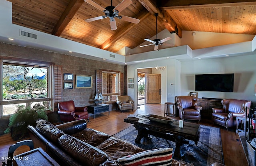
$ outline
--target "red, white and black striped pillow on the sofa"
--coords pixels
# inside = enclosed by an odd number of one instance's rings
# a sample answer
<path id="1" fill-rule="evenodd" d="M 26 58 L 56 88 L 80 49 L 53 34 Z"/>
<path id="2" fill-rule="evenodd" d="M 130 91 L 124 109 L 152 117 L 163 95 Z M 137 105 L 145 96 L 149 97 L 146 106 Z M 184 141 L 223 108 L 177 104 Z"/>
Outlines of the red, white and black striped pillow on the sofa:
<path id="1" fill-rule="evenodd" d="M 119 158 L 118 162 L 124 166 L 169 166 L 172 163 L 172 150 L 172 148 L 146 150 Z"/>

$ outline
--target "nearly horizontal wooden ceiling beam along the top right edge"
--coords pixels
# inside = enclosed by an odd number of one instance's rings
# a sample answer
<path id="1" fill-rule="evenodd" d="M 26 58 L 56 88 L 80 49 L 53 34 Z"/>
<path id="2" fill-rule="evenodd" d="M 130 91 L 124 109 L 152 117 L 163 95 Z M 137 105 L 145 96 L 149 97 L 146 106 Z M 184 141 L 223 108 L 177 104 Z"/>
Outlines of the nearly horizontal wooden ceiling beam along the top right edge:
<path id="1" fill-rule="evenodd" d="M 160 3 L 161 10 L 256 5 L 255 0 L 162 0 Z"/>

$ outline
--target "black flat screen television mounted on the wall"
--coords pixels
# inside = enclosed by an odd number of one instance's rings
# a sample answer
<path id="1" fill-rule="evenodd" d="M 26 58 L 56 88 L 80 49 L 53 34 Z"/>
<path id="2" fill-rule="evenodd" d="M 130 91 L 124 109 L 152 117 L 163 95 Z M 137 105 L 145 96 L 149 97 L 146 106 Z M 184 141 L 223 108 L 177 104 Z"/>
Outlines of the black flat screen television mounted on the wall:
<path id="1" fill-rule="evenodd" d="M 196 74 L 196 91 L 234 91 L 234 74 Z"/>

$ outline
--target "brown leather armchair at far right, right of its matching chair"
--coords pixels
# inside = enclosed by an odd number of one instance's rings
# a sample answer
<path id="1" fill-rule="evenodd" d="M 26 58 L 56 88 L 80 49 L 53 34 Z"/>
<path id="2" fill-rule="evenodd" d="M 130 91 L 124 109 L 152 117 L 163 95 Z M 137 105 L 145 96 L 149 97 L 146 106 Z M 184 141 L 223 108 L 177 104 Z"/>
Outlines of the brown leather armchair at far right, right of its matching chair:
<path id="1" fill-rule="evenodd" d="M 239 99 L 223 99 L 221 101 L 223 108 L 212 108 L 212 121 L 220 124 L 228 130 L 236 126 L 236 117 L 245 117 L 246 107 L 251 106 L 251 101 Z"/>

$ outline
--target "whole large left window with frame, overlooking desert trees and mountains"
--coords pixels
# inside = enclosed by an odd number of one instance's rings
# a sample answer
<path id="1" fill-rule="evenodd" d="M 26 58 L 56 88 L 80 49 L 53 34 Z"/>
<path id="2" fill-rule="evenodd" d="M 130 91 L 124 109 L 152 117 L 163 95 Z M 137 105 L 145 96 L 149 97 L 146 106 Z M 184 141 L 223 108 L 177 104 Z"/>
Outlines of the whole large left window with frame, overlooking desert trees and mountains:
<path id="1" fill-rule="evenodd" d="M 16 105 L 32 108 L 41 103 L 49 109 L 51 70 L 50 65 L 1 61 L 1 117 L 12 115 Z"/>

